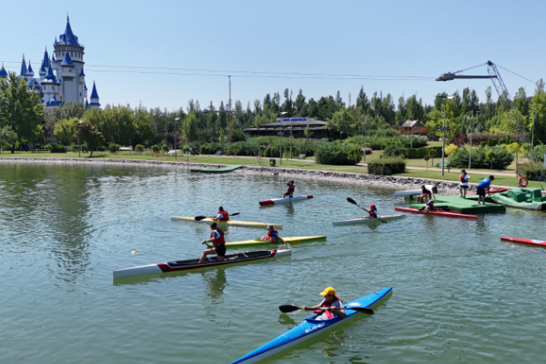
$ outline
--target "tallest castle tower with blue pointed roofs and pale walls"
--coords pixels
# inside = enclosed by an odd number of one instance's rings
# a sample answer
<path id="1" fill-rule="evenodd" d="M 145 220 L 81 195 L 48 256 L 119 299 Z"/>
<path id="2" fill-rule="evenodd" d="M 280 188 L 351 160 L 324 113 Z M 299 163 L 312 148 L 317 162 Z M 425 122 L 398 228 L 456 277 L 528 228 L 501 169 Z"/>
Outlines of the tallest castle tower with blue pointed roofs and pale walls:
<path id="1" fill-rule="evenodd" d="M 84 45 L 80 45 L 77 36 L 70 26 L 70 18 L 66 16 L 65 33 L 59 35 L 59 40 L 55 41 L 52 63 L 53 69 L 61 82 L 60 100 L 67 102 L 85 102 L 85 80 L 81 82 L 82 71 L 84 69 Z M 56 61 L 55 59 L 62 59 Z"/>

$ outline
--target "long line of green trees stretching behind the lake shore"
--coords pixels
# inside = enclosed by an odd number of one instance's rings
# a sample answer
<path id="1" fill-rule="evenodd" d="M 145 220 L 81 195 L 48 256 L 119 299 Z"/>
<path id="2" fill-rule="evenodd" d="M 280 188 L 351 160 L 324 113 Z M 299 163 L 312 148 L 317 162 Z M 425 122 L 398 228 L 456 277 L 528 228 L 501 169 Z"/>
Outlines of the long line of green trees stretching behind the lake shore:
<path id="1" fill-rule="evenodd" d="M 406 120 L 419 120 L 430 126 L 431 134 L 441 135 L 444 121 L 450 126 L 447 133 L 451 139 L 455 133 L 490 133 L 513 135 L 518 129 L 513 123 L 513 112 L 520 117 L 525 132 L 534 144 L 546 141 L 546 95 L 540 80 L 533 96 L 527 96 L 521 87 L 513 100 L 503 94 L 493 101 L 491 87 L 487 87 L 480 101 L 475 90 L 466 87 L 452 98 L 440 94 L 432 105 L 427 105 L 417 95 L 384 96 L 374 92 L 369 96 L 360 87 L 354 103 L 339 95 L 321 96 L 318 100 L 304 96 L 301 89 L 296 96 L 288 88 L 283 95 L 276 92 L 256 99 L 243 106 L 235 101 L 231 123 L 228 106 L 221 102 L 215 106 L 210 102 L 202 107 L 198 100 L 189 100 L 186 108 L 175 111 L 146 106 L 111 106 L 90 109 L 81 104 L 67 103 L 44 109 L 40 96 L 25 85 L 25 80 L 10 73 L 0 79 L 0 147 L 12 152 L 18 148 L 45 144 L 73 145 L 77 135 L 87 147 L 107 147 L 110 144 L 135 147 L 142 145 L 175 144 L 198 147 L 204 143 L 227 143 L 245 140 L 244 128 L 259 127 L 283 117 L 310 117 L 327 121 L 330 136 L 344 138 L 401 126 Z M 229 127 L 231 125 L 231 127 Z M 532 132 L 532 135 L 531 135 Z"/>

